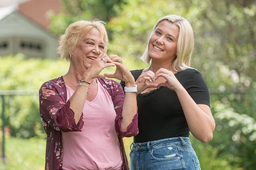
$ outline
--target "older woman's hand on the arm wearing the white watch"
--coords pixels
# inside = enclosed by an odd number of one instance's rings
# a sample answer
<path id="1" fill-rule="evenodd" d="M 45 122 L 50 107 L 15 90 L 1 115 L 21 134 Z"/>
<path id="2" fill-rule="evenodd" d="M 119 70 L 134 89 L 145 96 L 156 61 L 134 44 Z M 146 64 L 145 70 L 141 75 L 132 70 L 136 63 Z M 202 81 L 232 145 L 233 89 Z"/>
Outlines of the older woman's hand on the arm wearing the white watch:
<path id="1" fill-rule="evenodd" d="M 115 73 L 113 74 L 105 73 L 104 75 L 107 76 L 108 78 L 116 78 L 118 80 L 122 80 L 125 83 L 135 84 L 133 75 L 127 69 L 122 59 L 115 54 L 110 54 L 109 58 L 112 60 L 112 63 L 114 63 L 114 65 L 116 66 Z"/>

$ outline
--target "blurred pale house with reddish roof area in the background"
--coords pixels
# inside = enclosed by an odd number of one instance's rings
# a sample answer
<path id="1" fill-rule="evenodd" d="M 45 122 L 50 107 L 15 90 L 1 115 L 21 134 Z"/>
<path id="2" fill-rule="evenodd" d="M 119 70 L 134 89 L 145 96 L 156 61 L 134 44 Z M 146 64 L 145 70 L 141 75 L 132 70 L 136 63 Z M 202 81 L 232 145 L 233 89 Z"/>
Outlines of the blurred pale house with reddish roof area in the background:
<path id="1" fill-rule="evenodd" d="M 44 7 L 40 2 L 44 3 Z M 53 1 L 31 0 L 0 8 L 0 57 L 17 53 L 23 53 L 28 58 L 57 57 L 58 37 L 48 31 L 48 23 L 40 19 L 46 18 L 47 3 L 50 6 L 51 2 Z"/>

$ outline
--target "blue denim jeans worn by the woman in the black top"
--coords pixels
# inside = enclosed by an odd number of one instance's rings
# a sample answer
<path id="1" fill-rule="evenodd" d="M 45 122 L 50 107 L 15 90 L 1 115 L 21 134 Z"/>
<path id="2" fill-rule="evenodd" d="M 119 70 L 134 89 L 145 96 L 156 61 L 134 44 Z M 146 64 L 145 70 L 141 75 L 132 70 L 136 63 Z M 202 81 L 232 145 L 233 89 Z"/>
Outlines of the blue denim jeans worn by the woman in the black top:
<path id="1" fill-rule="evenodd" d="M 188 137 L 132 143 L 130 163 L 131 170 L 201 169 Z"/>

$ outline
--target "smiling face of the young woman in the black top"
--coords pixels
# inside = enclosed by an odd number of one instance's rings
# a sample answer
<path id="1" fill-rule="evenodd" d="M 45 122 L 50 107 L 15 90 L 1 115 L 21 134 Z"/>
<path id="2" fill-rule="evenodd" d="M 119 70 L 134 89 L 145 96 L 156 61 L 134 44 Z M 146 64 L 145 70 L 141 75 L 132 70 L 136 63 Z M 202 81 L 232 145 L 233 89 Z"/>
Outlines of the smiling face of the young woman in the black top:
<path id="1" fill-rule="evenodd" d="M 156 27 L 148 43 L 148 56 L 152 61 L 170 63 L 177 52 L 179 28 L 167 20 Z"/>

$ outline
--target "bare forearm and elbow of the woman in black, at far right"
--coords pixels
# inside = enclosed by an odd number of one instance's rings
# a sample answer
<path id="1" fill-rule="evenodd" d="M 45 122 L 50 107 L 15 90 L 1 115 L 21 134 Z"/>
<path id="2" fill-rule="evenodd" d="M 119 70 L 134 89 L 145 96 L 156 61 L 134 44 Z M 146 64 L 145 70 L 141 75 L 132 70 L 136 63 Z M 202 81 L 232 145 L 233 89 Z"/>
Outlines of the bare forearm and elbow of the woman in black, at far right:
<path id="1" fill-rule="evenodd" d="M 209 107 L 202 104 L 200 108 L 183 87 L 175 91 L 191 133 L 202 142 L 212 140 L 215 123 Z"/>

